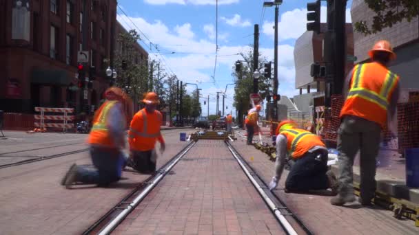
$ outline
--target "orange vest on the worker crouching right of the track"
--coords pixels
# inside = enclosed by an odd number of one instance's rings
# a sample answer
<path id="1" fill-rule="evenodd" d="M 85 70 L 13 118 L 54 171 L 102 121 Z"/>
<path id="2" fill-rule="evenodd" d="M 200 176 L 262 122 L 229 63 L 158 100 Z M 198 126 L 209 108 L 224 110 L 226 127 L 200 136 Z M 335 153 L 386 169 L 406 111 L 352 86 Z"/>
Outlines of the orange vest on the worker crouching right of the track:
<path id="1" fill-rule="evenodd" d="M 280 135 L 285 135 L 285 137 L 287 137 L 288 155 L 293 159 L 303 157 L 303 155 L 314 146 L 326 146 L 320 137 L 303 129 L 287 129 L 282 131 Z"/>

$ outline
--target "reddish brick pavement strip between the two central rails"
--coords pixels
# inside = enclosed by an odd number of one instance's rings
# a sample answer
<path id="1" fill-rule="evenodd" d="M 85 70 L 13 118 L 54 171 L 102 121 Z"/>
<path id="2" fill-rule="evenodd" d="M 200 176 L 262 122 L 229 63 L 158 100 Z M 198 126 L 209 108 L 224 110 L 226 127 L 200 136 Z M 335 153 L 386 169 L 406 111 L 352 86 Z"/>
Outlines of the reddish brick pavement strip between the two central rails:
<path id="1" fill-rule="evenodd" d="M 284 234 L 220 140 L 200 140 L 114 234 Z"/>

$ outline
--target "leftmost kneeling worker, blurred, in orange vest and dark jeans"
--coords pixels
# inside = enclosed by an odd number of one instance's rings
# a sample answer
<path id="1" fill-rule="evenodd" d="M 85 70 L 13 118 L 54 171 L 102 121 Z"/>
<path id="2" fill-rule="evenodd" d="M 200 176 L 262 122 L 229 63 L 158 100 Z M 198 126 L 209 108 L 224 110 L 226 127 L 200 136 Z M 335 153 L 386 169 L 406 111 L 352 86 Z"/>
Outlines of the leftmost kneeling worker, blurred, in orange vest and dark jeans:
<path id="1" fill-rule="evenodd" d="M 121 178 L 124 131 L 127 117 L 132 117 L 132 101 L 117 87 L 107 89 L 105 98 L 94 114 L 88 137 L 90 157 L 96 169 L 73 164 L 61 181 L 66 188 L 75 182 L 108 186 Z"/>

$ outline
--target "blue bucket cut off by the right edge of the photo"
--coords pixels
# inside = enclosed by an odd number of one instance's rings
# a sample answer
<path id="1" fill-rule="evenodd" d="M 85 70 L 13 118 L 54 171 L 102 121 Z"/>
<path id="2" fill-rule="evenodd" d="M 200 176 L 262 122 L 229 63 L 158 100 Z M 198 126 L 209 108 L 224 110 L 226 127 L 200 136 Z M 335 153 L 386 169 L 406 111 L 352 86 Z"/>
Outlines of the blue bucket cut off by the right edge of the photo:
<path id="1" fill-rule="evenodd" d="M 405 149 L 406 186 L 419 188 L 419 148 Z"/>

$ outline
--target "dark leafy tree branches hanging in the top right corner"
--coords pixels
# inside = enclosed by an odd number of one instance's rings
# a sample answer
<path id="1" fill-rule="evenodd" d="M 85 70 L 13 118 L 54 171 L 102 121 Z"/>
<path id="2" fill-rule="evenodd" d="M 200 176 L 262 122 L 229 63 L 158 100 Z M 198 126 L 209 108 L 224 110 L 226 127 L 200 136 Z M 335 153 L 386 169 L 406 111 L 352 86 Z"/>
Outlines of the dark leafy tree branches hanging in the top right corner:
<path id="1" fill-rule="evenodd" d="M 365 35 L 381 32 L 385 27 L 406 19 L 408 22 L 419 15 L 418 0 L 364 0 L 376 15 L 372 23 L 358 21 L 354 23 L 355 30 Z M 371 28 L 370 28 L 371 27 Z"/>

